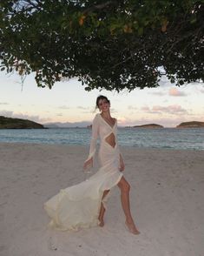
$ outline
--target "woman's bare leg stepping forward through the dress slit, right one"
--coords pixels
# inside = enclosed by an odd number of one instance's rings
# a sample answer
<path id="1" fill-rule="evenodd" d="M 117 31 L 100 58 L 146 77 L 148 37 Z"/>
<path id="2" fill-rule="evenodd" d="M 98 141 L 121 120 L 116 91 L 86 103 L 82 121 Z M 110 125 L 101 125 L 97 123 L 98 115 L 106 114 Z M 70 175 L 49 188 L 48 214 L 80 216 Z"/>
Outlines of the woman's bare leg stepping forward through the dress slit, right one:
<path id="1" fill-rule="evenodd" d="M 125 223 L 128 226 L 128 230 L 130 232 L 133 232 L 134 234 L 139 234 L 140 232 L 135 227 L 135 223 L 130 212 L 130 205 L 129 205 L 130 185 L 128 184 L 128 181 L 124 179 L 124 177 L 122 177 L 122 179 L 119 181 L 117 185 L 121 189 L 122 209 L 125 213 L 125 217 L 126 217 Z"/>

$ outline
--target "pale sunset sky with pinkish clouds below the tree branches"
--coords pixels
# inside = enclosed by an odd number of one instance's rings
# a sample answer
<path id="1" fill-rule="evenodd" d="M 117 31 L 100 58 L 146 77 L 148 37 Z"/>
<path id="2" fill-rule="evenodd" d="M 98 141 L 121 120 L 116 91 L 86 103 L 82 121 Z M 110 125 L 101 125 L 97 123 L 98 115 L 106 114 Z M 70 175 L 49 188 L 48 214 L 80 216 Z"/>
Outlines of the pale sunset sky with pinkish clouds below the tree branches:
<path id="1" fill-rule="evenodd" d="M 25 118 L 40 124 L 84 122 L 95 117 L 95 99 L 105 95 L 111 103 L 111 116 L 118 125 L 158 124 L 174 127 L 181 122 L 204 122 L 204 84 L 180 87 L 162 77 L 157 88 L 134 91 L 85 91 L 77 79 L 57 82 L 50 90 L 39 88 L 33 74 L 21 78 L 0 72 L 0 116 Z"/>

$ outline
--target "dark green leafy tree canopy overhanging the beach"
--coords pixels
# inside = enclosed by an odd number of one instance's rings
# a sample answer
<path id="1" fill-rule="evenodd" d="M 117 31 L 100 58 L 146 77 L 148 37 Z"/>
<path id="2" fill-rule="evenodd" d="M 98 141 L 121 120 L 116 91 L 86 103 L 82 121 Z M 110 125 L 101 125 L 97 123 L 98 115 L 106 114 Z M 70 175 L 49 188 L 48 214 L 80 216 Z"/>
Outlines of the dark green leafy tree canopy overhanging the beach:
<path id="1" fill-rule="evenodd" d="M 77 77 L 87 91 L 203 81 L 203 3 L 1 0 L 1 71 L 49 88 Z"/>

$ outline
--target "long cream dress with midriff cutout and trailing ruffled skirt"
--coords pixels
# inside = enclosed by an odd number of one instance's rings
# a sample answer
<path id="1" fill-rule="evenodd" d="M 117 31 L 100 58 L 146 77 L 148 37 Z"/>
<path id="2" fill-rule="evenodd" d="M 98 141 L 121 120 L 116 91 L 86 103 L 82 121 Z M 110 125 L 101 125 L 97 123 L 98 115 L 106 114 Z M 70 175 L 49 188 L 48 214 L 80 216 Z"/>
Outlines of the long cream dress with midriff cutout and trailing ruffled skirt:
<path id="1" fill-rule="evenodd" d="M 115 135 L 115 147 L 109 145 L 106 138 Z M 122 179 L 120 150 L 117 144 L 117 121 L 111 127 L 100 114 L 96 114 L 92 124 L 92 138 L 89 158 L 95 156 L 97 138 L 100 137 L 99 160 L 101 167 L 89 179 L 82 183 L 62 189 L 56 196 L 44 203 L 44 209 L 51 221 L 49 226 L 58 230 L 79 230 L 98 226 L 101 202 L 105 205 L 107 196 L 103 192 L 110 190 Z M 108 193 L 109 195 L 109 193 Z"/>

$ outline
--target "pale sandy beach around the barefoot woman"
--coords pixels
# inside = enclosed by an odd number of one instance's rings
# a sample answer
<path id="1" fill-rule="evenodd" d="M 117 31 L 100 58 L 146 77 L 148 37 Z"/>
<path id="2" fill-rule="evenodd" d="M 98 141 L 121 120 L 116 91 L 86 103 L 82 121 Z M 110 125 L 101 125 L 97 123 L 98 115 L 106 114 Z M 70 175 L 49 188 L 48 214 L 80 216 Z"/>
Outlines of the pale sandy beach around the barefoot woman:
<path id="1" fill-rule="evenodd" d="M 204 151 L 121 149 L 140 235 L 126 230 L 116 186 L 104 227 L 48 228 L 43 203 L 86 179 L 88 146 L 0 144 L 0 255 L 204 255 Z"/>

